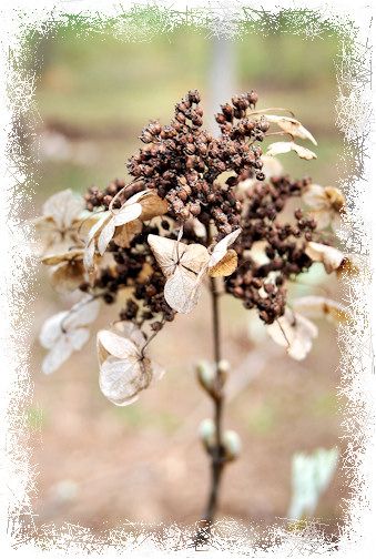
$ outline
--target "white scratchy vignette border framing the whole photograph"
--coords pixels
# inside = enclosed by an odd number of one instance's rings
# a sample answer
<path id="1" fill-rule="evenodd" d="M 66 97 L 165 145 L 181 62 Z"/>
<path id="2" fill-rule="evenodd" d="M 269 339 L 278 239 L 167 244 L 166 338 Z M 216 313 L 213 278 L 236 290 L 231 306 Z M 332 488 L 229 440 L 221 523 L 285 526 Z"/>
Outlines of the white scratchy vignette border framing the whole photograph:
<path id="1" fill-rule="evenodd" d="M 30 355 L 29 326 L 32 317 L 27 317 L 30 283 L 34 278 L 37 263 L 28 248 L 30 231 L 18 218 L 18 209 L 31 199 L 28 192 L 28 161 L 17 139 L 12 135 L 12 125 L 26 114 L 32 114 L 34 77 L 22 71 L 22 39 L 26 29 L 43 29 L 49 22 L 57 24 L 67 19 L 67 14 L 81 14 L 91 20 L 91 26 L 101 26 L 108 18 L 119 18 L 118 32 L 129 26 L 126 16 L 132 7 L 149 6 L 162 16 L 160 32 L 169 31 L 184 22 L 206 26 L 210 32 L 217 32 L 231 38 L 240 32 L 242 22 L 250 17 L 253 21 L 264 21 L 265 14 L 275 14 L 281 10 L 296 10 L 297 28 L 305 24 L 304 9 L 313 10 L 317 18 L 309 28 L 301 32 L 314 34 L 323 21 L 334 21 L 336 26 L 350 26 L 354 37 L 354 51 L 348 57 L 344 51 L 337 67 L 338 98 L 336 103 L 337 125 L 345 136 L 345 146 L 356 154 L 358 175 L 350 182 L 343 183 L 352 206 L 348 226 L 352 235 L 347 240 L 348 251 L 354 251 L 370 258 L 374 266 L 373 240 L 375 238 L 376 218 L 373 214 L 372 196 L 372 148 L 375 146 L 375 123 L 372 104 L 372 10 L 369 7 L 356 7 L 354 2 L 332 1 L 322 3 L 304 2 L 297 6 L 293 1 L 275 4 L 264 1 L 263 8 L 255 2 L 236 2 L 231 7 L 225 2 L 122 2 L 103 7 L 103 2 L 60 1 L 52 6 L 47 1 L 28 0 L 7 1 L 1 8 L 1 189 L 0 238 L 3 254 L 0 263 L 0 339 L 1 339 L 1 463 L 0 463 L 0 550 L 7 557 L 119 557 L 132 553 L 132 557 L 193 557 L 197 551 L 187 547 L 192 527 L 164 527 L 163 538 L 148 531 L 148 527 L 132 525 L 133 533 L 120 527 L 94 536 L 89 528 L 65 525 L 61 529 L 47 527 L 42 540 L 24 538 L 18 535 L 21 527 L 20 515 L 29 519 L 32 528 L 30 494 L 34 488 L 35 472 L 30 461 L 30 449 L 26 436 L 24 402 L 32 398 L 32 379 L 28 370 Z M 245 10 L 246 8 L 246 10 Z M 261 10 L 261 11 L 257 11 Z M 301 18 L 301 19 L 299 19 Z M 123 21 L 123 22 L 122 22 Z M 121 23 L 122 22 L 122 23 Z M 215 26 L 213 26 L 213 22 Z M 126 31 L 129 32 L 129 29 Z M 213 31 L 216 30 L 216 31 Z M 148 34 L 148 29 L 145 28 Z M 129 39 L 132 40 L 132 39 Z M 356 75 L 354 70 L 357 69 Z M 338 170 L 341 176 L 341 172 Z M 31 181 L 32 186 L 32 181 Z M 325 542 L 314 522 L 302 532 L 288 532 L 284 528 L 271 526 L 265 533 L 265 543 L 271 547 L 253 548 L 252 526 L 235 521 L 216 525 L 215 537 L 205 557 L 370 557 L 375 545 L 375 505 L 376 474 L 373 472 L 375 460 L 375 394 L 373 357 L 373 327 L 375 316 L 369 311 L 375 298 L 375 281 L 366 275 L 364 282 L 348 285 L 352 309 L 357 315 L 356 324 L 341 332 L 342 386 L 339 394 L 347 398 L 344 419 L 344 433 L 347 453 L 343 474 L 347 477 L 354 496 L 347 504 L 347 522 L 339 542 L 334 547 Z M 346 471 L 347 470 L 347 471 Z M 129 526 L 128 526 L 129 528 Z"/>

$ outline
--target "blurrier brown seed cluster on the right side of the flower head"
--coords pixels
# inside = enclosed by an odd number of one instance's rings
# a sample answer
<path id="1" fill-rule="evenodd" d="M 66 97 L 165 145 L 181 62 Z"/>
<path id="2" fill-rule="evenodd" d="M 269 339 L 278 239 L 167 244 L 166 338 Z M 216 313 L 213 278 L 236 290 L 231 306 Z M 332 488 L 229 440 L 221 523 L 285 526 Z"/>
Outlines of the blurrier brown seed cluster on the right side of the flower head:
<path id="1" fill-rule="evenodd" d="M 306 241 L 312 240 L 316 224 L 295 211 L 294 223 L 280 223 L 276 217 L 286 201 L 299 196 L 307 180 L 291 181 L 288 176 L 274 177 L 270 184 L 256 185 L 247 195 L 242 220 L 242 234 L 234 246 L 238 268 L 226 282 L 226 291 L 243 299 L 245 308 L 257 308 L 262 321 L 272 324 L 282 316 L 286 306 L 286 281 L 312 265 L 305 254 Z M 257 241 L 264 242 L 268 258 L 257 264 L 247 252 Z"/>

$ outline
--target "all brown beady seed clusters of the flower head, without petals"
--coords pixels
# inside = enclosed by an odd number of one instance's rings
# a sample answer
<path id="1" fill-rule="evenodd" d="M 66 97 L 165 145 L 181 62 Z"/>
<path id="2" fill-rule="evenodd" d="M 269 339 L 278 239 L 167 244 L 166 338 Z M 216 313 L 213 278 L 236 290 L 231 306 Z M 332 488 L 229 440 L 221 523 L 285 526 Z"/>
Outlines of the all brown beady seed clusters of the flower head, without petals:
<path id="1" fill-rule="evenodd" d="M 251 91 L 223 104 L 215 116 L 221 135 L 214 138 L 203 129 L 199 92 L 189 91 L 176 104 L 170 125 L 152 121 L 143 129 L 144 146 L 129 160 L 128 169 L 134 180 L 126 189 L 124 181 L 115 180 L 103 191 L 95 187 L 88 191 L 85 201 L 90 211 L 106 210 L 110 204 L 119 207 L 145 189 L 156 190 L 169 202 L 167 214 L 154 220 L 153 225 L 144 223 L 129 248 L 121 248 L 113 241 L 109 245 L 115 265 L 101 272 L 93 289 L 110 304 L 119 289 L 132 287 L 121 319 L 139 326 L 150 321 L 152 329 L 159 331 L 174 318 L 175 312 L 163 295 L 165 277 L 150 250 L 148 235 L 176 240 L 181 225 L 185 243 L 206 247 L 213 241 L 207 236 L 213 225 L 216 242 L 241 227 L 242 234 L 232 246 L 237 253 L 238 267 L 224 281 L 225 288 L 241 298 L 246 308 L 256 308 L 266 324 L 284 314 L 286 282 L 312 264 L 305 246 L 316 225 L 301 210 L 294 218 L 285 222 L 282 218 L 286 202 L 301 196 L 309 181 L 277 176 L 264 182 L 262 150 L 256 142 L 263 141 L 268 122 L 255 111 L 256 102 L 257 94 Z M 221 176 L 224 172 L 228 173 L 227 179 Z M 246 179 L 260 182 L 243 192 L 237 185 Z M 197 230 L 197 223 L 204 233 Z M 252 255 L 260 241 L 267 257 L 263 264 Z"/>

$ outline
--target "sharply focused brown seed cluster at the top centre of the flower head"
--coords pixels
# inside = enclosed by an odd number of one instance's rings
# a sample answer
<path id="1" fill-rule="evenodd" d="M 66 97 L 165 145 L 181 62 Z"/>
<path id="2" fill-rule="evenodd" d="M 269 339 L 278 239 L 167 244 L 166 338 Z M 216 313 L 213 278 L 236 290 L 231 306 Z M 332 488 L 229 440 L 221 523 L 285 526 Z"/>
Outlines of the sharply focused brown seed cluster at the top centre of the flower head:
<path id="1" fill-rule="evenodd" d="M 250 176 L 264 179 L 262 151 L 253 145 L 268 129 L 263 119 L 246 118 L 257 101 L 255 92 L 234 96 L 216 116 L 221 136 L 204 130 L 200 94 L 190 91 L 175 106 L 171 125 L 151 122 L 141 134 L 144 146 L 128 164 L 131 175 L 156 189 L 169 201 L 169 215 L 177 222 L 199 217 L 212 220 L 220 234 L 238 226 L 241 205 L 233 193 L 237 181 Z M 224 172 L 235 176 L 225 187 L 216 180 Z"/>

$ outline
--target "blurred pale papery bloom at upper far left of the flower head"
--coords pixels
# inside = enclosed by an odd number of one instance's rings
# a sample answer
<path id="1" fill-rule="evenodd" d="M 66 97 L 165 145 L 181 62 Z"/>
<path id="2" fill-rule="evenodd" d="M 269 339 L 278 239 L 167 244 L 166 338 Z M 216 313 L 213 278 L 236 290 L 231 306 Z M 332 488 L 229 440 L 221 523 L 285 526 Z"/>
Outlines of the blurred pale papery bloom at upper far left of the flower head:
<path id="1" fill-rule="evenodd" d="M 78 241 L 83 210 L 83 200 L 75 196 L 70 189 L 53 194 L 44 202 L 42 215 L 33 220 L 44 251 L 57 244 Z"/>

